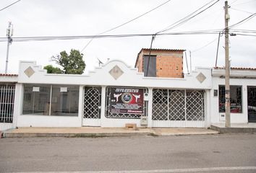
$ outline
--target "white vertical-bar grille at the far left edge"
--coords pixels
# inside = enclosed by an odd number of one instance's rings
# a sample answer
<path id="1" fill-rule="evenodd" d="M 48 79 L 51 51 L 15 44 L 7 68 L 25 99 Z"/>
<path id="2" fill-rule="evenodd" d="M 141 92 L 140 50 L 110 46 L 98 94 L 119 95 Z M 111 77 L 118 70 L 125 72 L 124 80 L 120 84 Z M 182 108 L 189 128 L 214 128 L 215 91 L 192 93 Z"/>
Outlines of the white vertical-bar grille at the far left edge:
<path id="1" fill-rule="evenodd" d="M 15 84 L 0 84 L 0 123 L 12 123 Z"/>

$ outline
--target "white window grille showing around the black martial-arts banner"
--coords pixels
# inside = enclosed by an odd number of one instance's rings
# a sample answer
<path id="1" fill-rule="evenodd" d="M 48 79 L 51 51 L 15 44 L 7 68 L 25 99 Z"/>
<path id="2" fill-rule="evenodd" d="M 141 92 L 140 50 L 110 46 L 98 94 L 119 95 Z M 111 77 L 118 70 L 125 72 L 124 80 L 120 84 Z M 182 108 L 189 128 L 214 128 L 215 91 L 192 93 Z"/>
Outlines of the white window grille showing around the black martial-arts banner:
<path id="1" fill-rule="evenodd" d="M 111 107 L 111 86 L 108 86 L 106 88 L 106 117 L 108 118 L 129 118 L 129 119 L 139 119 L 141 116 L 148 116 L 147 113 L 147 107 L 148 107 L 148 102 L 144 101 L 144 109 L 141 114 L 133 114 L 133 113 L 113 113 L 110 112 L 110 107 Z M 132 87 L 125 87 L 125 88 L 131 88 Z M 144 93 L 148 93 L 147 89 L 144 89 Z"/>

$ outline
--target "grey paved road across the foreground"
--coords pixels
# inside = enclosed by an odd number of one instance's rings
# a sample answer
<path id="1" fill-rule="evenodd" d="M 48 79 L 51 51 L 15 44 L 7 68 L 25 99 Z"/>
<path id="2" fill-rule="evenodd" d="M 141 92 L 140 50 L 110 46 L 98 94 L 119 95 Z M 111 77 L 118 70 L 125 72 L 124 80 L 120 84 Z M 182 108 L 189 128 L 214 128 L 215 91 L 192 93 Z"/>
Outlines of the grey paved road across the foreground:
<path id="1" fill-rule="evenodd" d="M 0 139 L 0 172 L 121 170 L 256 172 L 256 134 Z"/>

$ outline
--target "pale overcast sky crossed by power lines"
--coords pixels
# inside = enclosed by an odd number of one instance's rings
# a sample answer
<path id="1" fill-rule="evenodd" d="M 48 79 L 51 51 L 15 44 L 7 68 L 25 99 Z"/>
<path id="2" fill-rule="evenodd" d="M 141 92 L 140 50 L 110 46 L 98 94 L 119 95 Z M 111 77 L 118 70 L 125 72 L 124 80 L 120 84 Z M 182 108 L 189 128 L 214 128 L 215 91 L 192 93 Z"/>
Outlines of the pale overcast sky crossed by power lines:
<path id="1" fill-rule="evenodd" d="M 1 0 L 0 9 L 17 0 Z M 12 37 L 44 37 L 97 35 L 150 11 L 167 0 L 21 0 L 0 11 L 0 38 L 6 37 L 8 23 L 12 22 Z M 191 14 L 211 0 L 171 0 L 127 25 L 104 35 L 154 34 Z M 229 1 L 229 25 L 242 21 L 256 12 L 256 0 Z M 168 32 L 221 30 L 224 28 L 224 1 L 220 0 L 188 22 Z M 236 30 L 253 30 L 256 35 L 256 17 L 237 25 Z M 256 37 L 236 35 L 229 37 L 232 67 L 256 68 Z M 71 49 L 82 50 L 90 39 L 12 42 L 9 46 L 8 73 L 17 74 L 20 61 L 36 61 L 40 66 L 51 64 L 51 56 Z M 114 59 L 134 67 L 137 53 L 150 48 L 151 36 L 95 38 L 82 51 L 86 63 L 85 74 Z M 188 66 L 213 67 L 216 63 L 218 33 L 212 35 L 156 35 L 152 48 L 184 49 Z M 225 66 L 224 35 L 221 35 L 217 66 Z M 191 62 L 190 62 L 191 52 Z M 185 54 L 184 54 L 185 55 Z M 5 71 L 7 41 L 0 42 L 0 74 Z M 187 64 L 184 56 L 184 73 Z"/>

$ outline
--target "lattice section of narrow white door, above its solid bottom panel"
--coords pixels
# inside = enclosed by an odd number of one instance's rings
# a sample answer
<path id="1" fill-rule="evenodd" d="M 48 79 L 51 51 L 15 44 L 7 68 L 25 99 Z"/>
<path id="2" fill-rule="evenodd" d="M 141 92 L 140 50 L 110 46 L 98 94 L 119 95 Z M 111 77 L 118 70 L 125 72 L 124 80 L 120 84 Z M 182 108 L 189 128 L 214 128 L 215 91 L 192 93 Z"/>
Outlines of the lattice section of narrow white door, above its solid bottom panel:
<path id="1" fill-rule="evenodd" d="M 84 97 L 84 118 L 101 118 L 101 88 L 86 86 Z"/>

